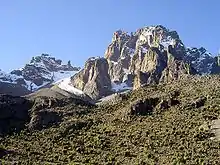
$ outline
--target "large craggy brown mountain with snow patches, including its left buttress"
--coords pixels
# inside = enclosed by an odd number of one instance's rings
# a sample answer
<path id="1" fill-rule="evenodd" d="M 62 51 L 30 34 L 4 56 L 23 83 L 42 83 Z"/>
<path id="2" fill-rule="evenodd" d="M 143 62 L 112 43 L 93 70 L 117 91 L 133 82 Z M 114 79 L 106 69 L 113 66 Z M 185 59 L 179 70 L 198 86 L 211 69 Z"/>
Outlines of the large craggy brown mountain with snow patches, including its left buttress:
<path id="1" fill-rule="evenodd" d="M 189 48 L 176 31 L 148 26 L 113 34 L 104 57 L 89 58 L 71 78 L 75 88 L 99 99 L 109 93 L 180 79 L 188 74 L 219 73 L 219 58 L 205 48 Z"/>

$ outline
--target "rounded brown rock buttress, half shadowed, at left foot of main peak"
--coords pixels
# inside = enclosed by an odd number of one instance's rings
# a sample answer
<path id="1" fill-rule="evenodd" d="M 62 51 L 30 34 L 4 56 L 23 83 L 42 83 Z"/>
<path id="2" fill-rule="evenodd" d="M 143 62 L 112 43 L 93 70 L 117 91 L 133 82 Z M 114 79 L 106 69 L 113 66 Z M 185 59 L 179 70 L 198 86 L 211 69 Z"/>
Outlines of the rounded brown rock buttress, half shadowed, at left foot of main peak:
<path id="1" fill-rule="evenodd" d="M 108 62 L 104 58 L 89 59 L 83 70 L 72 77 L 72 85 L 93 99 L 107 96 L 111 92 Z"/>

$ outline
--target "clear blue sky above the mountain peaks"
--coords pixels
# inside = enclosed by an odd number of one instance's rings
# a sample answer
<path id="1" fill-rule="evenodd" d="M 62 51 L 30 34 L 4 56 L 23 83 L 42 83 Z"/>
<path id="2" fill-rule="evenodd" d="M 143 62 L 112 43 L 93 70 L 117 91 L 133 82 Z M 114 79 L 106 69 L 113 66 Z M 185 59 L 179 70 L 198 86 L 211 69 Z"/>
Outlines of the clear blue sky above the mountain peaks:
<path id="1" fill-rule="evenodd" d="M 162 24 L 186 46 L 217 54 L 218 0 L 0 0 L 0 68 L 49 53 L 75 65 L 103 56 L 112 34 Z"/>

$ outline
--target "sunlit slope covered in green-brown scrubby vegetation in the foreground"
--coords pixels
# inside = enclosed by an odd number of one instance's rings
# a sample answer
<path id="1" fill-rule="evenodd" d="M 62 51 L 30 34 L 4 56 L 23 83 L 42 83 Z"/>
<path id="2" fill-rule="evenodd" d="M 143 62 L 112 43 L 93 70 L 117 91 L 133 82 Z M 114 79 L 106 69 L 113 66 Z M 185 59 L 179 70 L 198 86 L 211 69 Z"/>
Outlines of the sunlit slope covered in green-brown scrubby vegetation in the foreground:
<path id="1" fill-rule="evenodd" d="M 59 108 L 59 126 L 1 139 L 6 164 L 220 164 L 211 130 L 220 77 L 188 76 L 118 96 L 114 104 Z M 5 153 L 6 151 L 4 151 Z"/>

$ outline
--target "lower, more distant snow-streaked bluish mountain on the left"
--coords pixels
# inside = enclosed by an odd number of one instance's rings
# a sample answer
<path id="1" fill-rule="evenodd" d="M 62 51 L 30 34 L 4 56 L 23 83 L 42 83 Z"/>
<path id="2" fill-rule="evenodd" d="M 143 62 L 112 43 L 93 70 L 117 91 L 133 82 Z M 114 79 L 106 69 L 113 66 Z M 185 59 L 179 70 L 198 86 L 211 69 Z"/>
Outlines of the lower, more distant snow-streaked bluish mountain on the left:
<path id="1" fill-rule="evenodd" d="M 16 92 L 15 95 L 31 93 L 40 88 L 49 87 L 61 79 L 71 77 L 79 70 L 80 68 L 73 67 L 70 61 L 62 64 L 62 60 L 42 54 L 33 57 L 30 63 L 21 69 L 13 70 L 10 73 L 0 70 L 0 93 L 14 94 L 11 90 L 9 92 L 11 86 L 19 88 L 21 91 Z M 23 92 L 24 90 L 25 92 Z"/>

